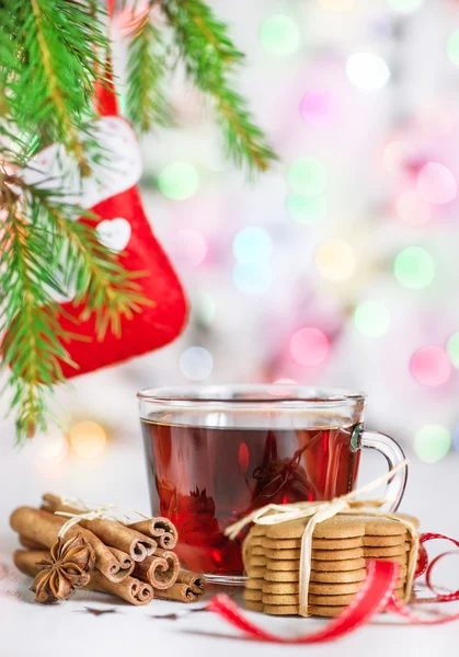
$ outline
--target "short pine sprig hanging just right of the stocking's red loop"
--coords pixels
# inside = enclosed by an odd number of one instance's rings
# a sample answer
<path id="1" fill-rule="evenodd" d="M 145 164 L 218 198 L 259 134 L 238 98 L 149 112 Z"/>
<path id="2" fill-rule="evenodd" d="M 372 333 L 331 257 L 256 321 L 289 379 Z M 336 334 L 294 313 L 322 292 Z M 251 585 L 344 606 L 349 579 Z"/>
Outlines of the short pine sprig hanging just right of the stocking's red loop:
<path id="1" fill-rule="evenodd" d="M 137 25 L 128 46 L 127 115 L 142 132 L 153 124 L 170 124 L 171 111 L 164 97 L 165 49 L 161 33 L 148 13 Z"/>

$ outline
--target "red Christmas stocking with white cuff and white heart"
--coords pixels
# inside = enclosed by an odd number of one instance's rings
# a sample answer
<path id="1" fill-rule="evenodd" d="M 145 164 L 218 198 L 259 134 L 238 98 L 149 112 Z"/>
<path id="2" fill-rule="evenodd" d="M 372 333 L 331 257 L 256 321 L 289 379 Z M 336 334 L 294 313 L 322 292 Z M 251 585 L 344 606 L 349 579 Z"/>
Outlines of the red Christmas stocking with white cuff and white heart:
<path id="1" fill-rule="evenodd" d="M 113 105 L 113 95 L 108 101 Z M 70 333 L 91 338 L 90 343 L 79 339 L 66 343 L 71 359 L 79 366 L 76 370 L 64 364 L 66 377 L 121 362 L 170 343 L 184 327 L 187 313 L 182 286 L 141 205 L 136 186 L 141 173 L 140 150 L 133 129 L 118 116 L 103 116 L 94 126 L 93 137 L 102 148 L 103 158 L 90 177 L 82 178 L 57 145 L 39 152 L 23 175 L 28 183 L 59 188 L 65 201 L 90 208 L 97 215 L 101 242 L 114 252 L 126 253 L 122 261 L 125 268 L 148 273 L 138 283 L 154 307 L 142 307 L 131 320 L 123 318 L 121 337 L 108 330 L 102 342 L 96 342 L 93 316 L 77 324 L 62 319 L 61 325 Z M 71 300 L 64 302 L 62 308 L 73 318 L 79 318 L 82 310 Z"/>

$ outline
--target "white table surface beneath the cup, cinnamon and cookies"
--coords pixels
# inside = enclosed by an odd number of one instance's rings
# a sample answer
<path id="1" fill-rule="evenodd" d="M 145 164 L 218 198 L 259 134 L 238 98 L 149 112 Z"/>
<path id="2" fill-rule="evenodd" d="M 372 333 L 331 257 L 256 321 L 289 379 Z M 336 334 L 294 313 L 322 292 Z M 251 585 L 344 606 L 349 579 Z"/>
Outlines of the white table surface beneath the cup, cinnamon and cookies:
<path id="1" fill-rule="evenodd" d="M 432 657 L 455 655 L 459 645 L 459 621 L 435 627 L 400 626 L 381 615 L 371 625 L 338 642 L 321 646 L 277 646 L 246 639 L 211 613 L 196 613 L 179 621 L 153 615 L 186 610 L 190 606 L 154 600 L 134 608 L 90 591 L 78 591 L 68 602 L 45 607 L 33 602 L 30 580 L 16 573 L 12 552 L 16 538 L 8 518 L 21 505 L 37 506 L 42 493 L 55 491 L 84 496 L 90 502 L 125 502 L 148 509 L 142 452 L 138 437 L 130 445 L 112 446 L 97 463 L 65 461 L 58 465 L 39 457 L 39 445 L 18 451 L 11 447 L 11 431 L 0 440 L 0 655 L 1 657 L 92 657 L 134 654 L 229 657 L 245 655 L 305 655 L 332 657 L 387 657 L 388 655 Z M 367 459 L 368 463 L 368 459 Z M 365 479 L 377 474 L 371 461 Z M 380 465 L 380 463 L 378 463 Z M 380 471 L 379 471 L 380 472 Z M 459 537 L 457 510 L 458 456 L 437 465 L 415 464 L 403 509 L 416 515 L 423 530 Z M 364 479 L 364 476 L 363 476 Z M 458 578 L 456 585 L 459 586 Z M 234 589 L 231 590 L 234 595 Z M 455 609 L 456 603 L 448 606 Z M 85 607 L 116 609 L 116 613 L 94 616 Z M 443 607 L 445 610 L 445 606 Z M 456 606 L 456 610 L 459 610 Z M 294 636 L 318 629 L 318 619 L 276 619 L 250 614 L 252 619 L 285 635 Z M 343 653 L 344 652 L 344 653 Z"/>

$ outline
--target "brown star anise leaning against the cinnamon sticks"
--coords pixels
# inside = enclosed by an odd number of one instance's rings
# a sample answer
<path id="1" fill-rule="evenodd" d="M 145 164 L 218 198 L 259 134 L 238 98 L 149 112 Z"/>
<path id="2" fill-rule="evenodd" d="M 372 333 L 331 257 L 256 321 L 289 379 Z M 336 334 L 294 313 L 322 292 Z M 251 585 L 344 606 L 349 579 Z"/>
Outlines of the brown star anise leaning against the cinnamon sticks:
<path id="1" fill-rule="evenodd" d="M 68 541 L 58 539 L 49 557 L 36 564 L 39 572 L 32 585 L 35 600 L 42 603 L 68 600 L 76 588 L 89 583 L 94 562 L 94 551 L 81 534 Z"/>

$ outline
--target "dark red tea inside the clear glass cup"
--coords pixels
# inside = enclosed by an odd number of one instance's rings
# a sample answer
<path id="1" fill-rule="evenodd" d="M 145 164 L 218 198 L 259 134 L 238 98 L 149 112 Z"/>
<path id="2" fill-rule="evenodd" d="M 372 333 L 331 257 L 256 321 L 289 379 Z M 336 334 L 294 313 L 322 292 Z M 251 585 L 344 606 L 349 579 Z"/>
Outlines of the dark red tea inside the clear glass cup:
<path id="1" fill-rule="evenodd" d="M 230 541 L 225 528 L 267 504 L 351 491 L 359 452 L 349 447 L 354 426 L 338 423 L 257 429 L 142 419 L 152 510 L 175 523 L 182 563 L 207 574 L 241 575 L 243 537 Z"/>

